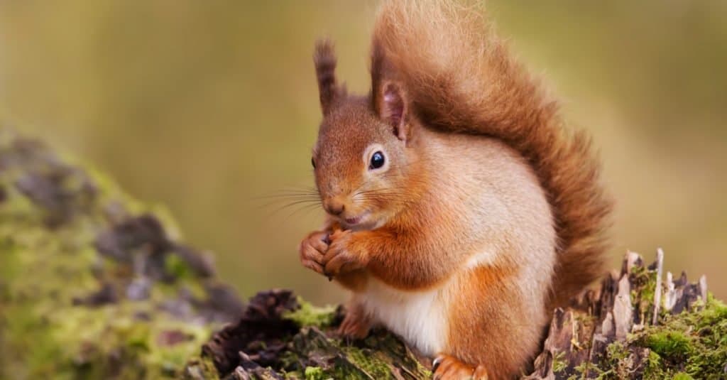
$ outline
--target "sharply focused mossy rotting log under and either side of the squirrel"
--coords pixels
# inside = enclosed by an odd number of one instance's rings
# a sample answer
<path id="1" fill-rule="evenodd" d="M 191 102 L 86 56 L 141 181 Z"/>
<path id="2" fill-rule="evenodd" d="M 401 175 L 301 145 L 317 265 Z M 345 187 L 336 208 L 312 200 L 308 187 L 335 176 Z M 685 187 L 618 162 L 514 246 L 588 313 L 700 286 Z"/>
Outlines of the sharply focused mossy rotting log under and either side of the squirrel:
<path id="1" fill-rule="evenodd" d="M 523 379 L 727 379 L 727 306 L 707 293 L 704 277 L 692 284 L 667 274 L 662 282 L 662 263 L 661 251 L 649 266 L 628 253 L 600 290 L 556 309 Z M 228 379 L 430 377 L 431 358 L 383 330 L 362 341 L 337 337 L 342 314 L 287 291 L 259 293 L 204 345 L 204 357 Z"/>

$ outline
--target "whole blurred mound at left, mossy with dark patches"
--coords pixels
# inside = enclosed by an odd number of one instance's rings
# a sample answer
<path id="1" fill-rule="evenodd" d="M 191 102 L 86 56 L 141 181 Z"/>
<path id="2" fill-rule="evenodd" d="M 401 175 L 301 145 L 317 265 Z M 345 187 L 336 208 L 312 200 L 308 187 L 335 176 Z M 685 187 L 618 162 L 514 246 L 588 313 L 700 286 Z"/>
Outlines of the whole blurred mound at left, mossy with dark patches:
<path id="1" fill-rule="evenodd" d="M 0 378 L 179 375 L 240 302 L 168 216 L 67 162 L 0 130 Z"/>

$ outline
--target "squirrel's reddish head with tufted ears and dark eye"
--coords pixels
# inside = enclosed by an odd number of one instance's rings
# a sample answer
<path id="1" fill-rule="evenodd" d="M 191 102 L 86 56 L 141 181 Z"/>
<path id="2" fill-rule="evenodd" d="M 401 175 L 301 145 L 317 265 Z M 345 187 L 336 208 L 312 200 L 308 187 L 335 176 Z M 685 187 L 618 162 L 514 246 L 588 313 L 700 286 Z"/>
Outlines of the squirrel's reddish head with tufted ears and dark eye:
<path id="1" fill-rule="evenodd" d="M 412 197 L 418 165 L 406 94 L 387 80 L 367 96 L 348 95 L 329 41 L 318 41 L 314 61 L 324 117 L 311 163 L 321 203 L 346 229 L 375 229 Z"/>

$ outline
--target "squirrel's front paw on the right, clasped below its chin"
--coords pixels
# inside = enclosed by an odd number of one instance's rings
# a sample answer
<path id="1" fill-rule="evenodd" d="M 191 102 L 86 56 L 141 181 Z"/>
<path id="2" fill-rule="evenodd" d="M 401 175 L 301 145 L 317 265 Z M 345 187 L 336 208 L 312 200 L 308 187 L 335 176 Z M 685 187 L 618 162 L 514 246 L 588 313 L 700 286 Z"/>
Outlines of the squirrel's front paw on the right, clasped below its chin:
<path id="1" fill-rule="evenodd" d="M 324 274 L 335 277 L 341 273 L 364 269 L 369 264 L 368 256 L 361 246 L 356 245 L 356 232 L 338 230 L 330 235 L 328 250 L 323 257 Z"/>

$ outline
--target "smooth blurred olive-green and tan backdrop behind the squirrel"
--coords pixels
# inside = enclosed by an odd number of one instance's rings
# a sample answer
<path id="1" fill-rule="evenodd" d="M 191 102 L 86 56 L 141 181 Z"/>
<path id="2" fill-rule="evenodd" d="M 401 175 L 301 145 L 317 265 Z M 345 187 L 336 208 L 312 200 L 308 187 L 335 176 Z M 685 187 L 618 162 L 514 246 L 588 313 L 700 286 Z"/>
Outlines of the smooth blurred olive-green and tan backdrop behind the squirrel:
<path id="1" fill-rule="evenodd" d="M 727 298 L 727 1 L 489 1 L 513 52 L 593 132 L 627 250 Z M 311 52 L 368 90 L 369 1 L 3 1 L 0 114 L 167 205 L 248 296 L 344 294 L 300 266 L 321 212 L 260 197 L 312 186 Z M 293 213 L 293 215 L 291 215 Z"/>

